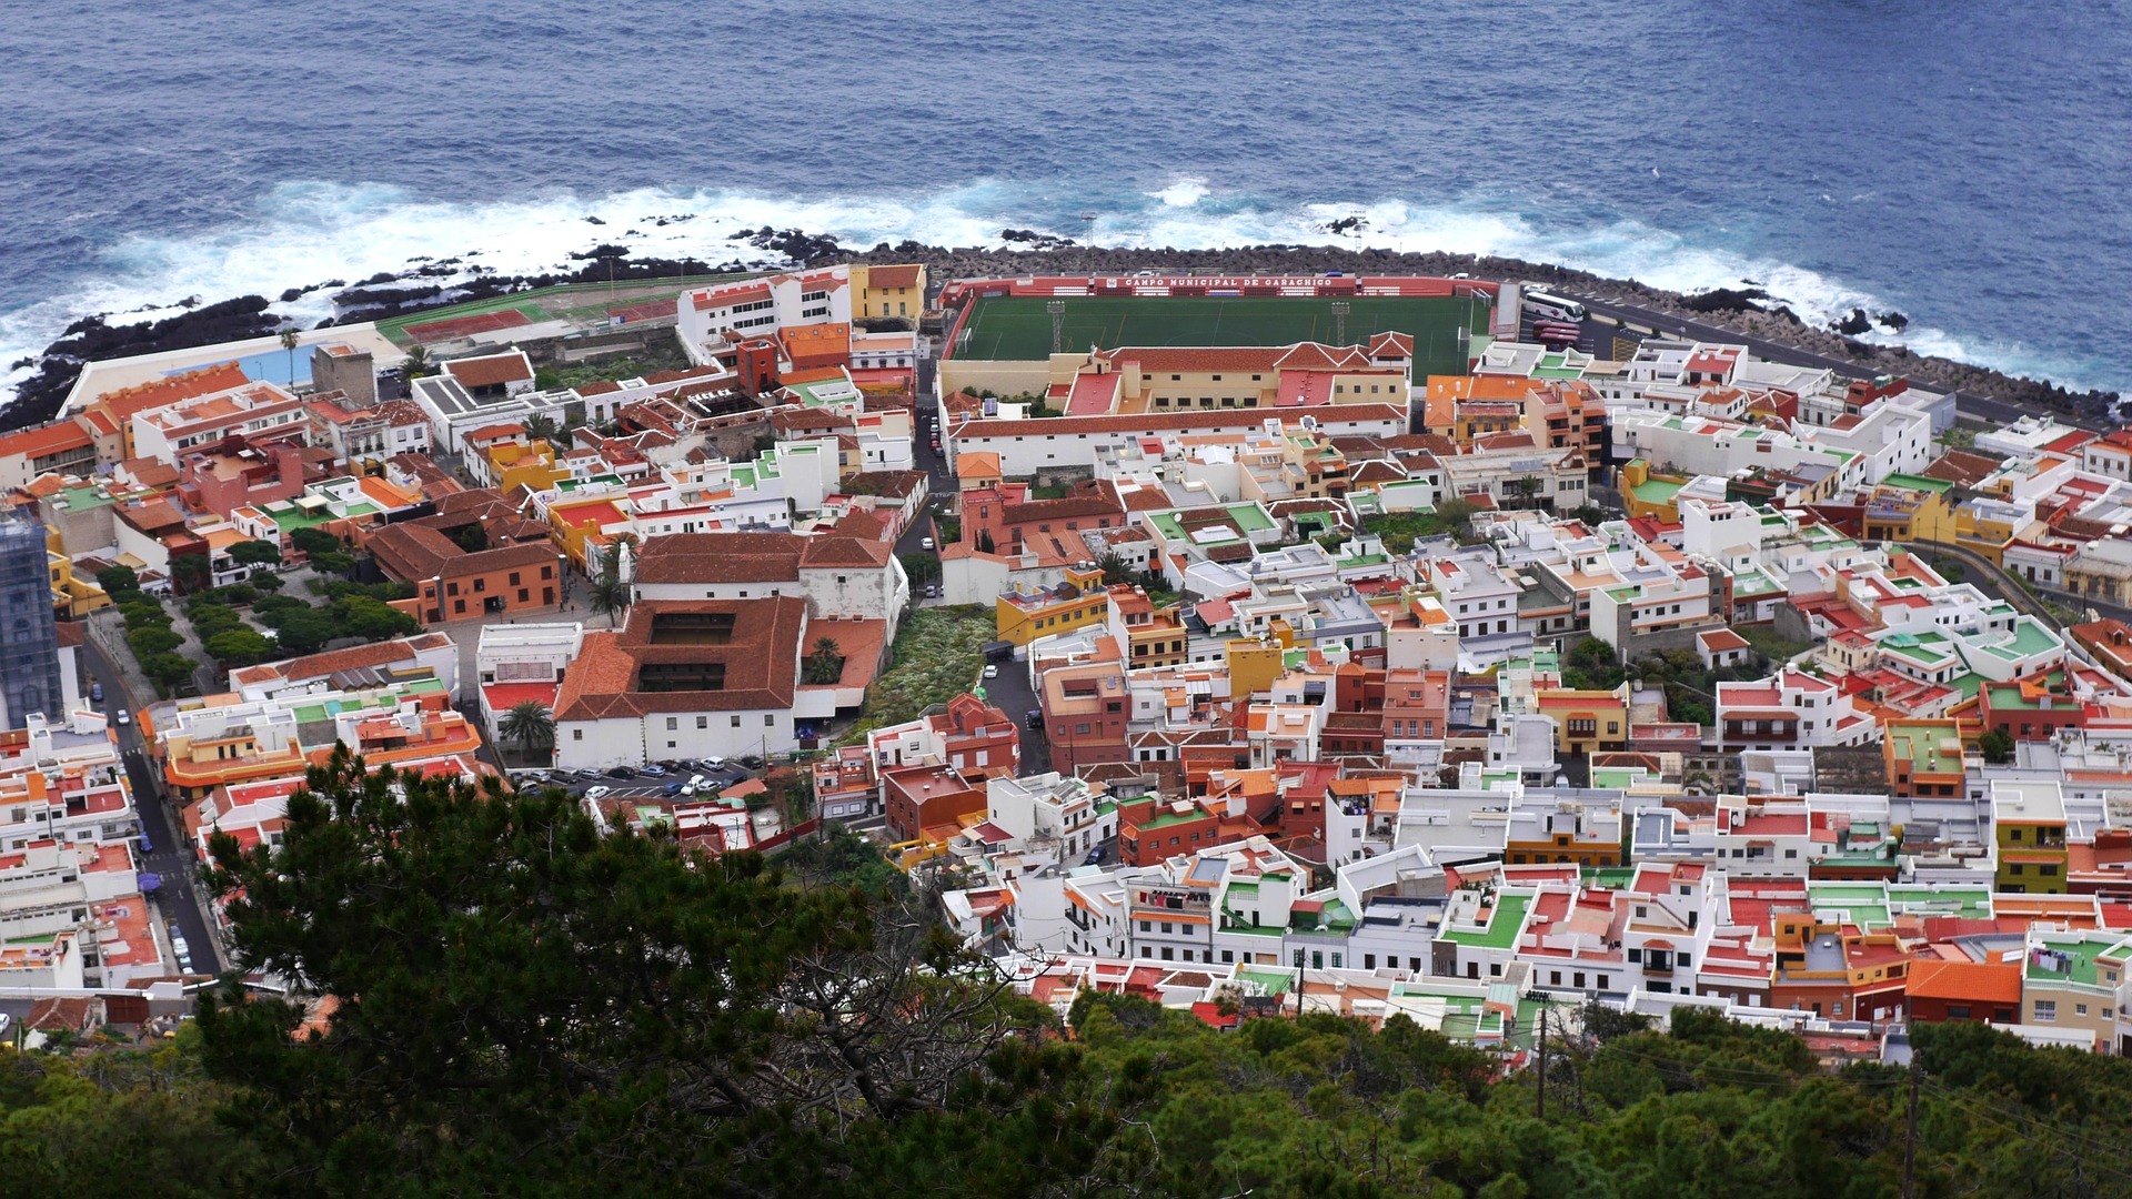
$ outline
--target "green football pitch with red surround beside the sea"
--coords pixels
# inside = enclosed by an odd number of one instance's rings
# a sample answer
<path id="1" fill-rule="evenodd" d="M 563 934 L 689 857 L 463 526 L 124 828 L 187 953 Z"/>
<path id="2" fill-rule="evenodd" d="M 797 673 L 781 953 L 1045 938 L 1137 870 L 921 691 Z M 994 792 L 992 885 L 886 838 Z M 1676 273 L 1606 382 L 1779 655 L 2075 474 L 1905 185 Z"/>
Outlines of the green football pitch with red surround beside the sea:
<path id="1" fill-rule="evenodd" d="M 1051 354 L 1045 297 L 979 297 L 949 350 L 953 358 L 1032 361 Z M 1354 297 L 1347 341 L 1377 333 L 1414 335 L 1414 373 L 1465 373 L 1460 333 L 1486 329 L 1488 305 L 1467 297 Z M 1292 346 L 1335 339 L 1330 299 L 1241 297 L 1066 297 L 1060 350 L 1089 346 Z"/>

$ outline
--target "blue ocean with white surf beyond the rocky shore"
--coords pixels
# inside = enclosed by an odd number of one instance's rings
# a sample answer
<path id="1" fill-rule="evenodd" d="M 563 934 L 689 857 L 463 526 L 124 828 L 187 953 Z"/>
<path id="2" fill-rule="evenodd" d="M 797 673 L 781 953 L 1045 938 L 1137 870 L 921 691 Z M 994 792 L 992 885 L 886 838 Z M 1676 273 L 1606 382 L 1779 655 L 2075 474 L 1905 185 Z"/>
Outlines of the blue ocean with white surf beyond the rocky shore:
<path id="1" fill-rule="evenodd" d="M 2096 4 L 62 2 L 0 28 L 0 369 L 424 258 L 1335 243 L 1761 286 L 2132 390 L 2132 19 Z M 1335 220 L 1362 228 L 1332 235 Z M 599 218 L 603 224 L 591 224 Z M 665 224 L 655 224 L 667 218 Z M 687 218 L 687 220 L 674 220 Z M 277 305 L 311 324 L 322 294 Z"/>

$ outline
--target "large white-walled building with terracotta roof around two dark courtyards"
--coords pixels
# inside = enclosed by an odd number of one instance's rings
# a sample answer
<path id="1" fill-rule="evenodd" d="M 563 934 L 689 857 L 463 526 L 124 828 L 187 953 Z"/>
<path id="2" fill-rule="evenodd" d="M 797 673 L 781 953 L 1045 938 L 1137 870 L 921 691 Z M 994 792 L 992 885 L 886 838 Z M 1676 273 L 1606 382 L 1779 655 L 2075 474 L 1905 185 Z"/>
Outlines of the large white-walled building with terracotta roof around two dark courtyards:
<path id="1" fill-rule="evenodd" d="M 554 702 L 556 766 L 797 749 L 808 602 L 640 600 L 629 623 L 586 632 Z"/>

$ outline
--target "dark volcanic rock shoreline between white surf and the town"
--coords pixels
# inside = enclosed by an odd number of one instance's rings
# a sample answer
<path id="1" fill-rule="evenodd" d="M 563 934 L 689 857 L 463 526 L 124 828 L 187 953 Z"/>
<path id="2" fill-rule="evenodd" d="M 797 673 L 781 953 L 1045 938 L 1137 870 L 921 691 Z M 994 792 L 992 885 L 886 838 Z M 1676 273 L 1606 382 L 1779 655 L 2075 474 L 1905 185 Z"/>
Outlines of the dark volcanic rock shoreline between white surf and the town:
<path id="1" fill-rule="evenodd" d="M 627 237 L 627 233 L 623 235 Z M 569 271 L 542 275 L 499 275 L 461 258 L 426 260 L 407 271 L 379 273 L 354 286 L 330 279 L 324 284 L 290 288 L 281 301 L 294 301 L 318 290 L 333 290 L 335 318 L 318 326 L 358 324 L 382 320 L 407 311 L 478 301 L 512 290 L 544 288 L 574 282 L 629 282 L 674 275 L 710 275 L 772 267 L 810 267 L 825 262 L 923 262 L 934 277 L 987 277 L 987 275 L 1119 275 L 1130 271 L 1220 271 L 1245 275 L 1254 271 L 1271 273 L 1377 273 L 1377 275 L 1454 275 L 1469 273 L 1484 279 L 1533 279 L 1539 284 L 1599 290 L 1625 303 L 1650 307 L 1671 316 L 1695 318 L 1753 337 L 1787 341 L 1804 350 L 1848 358 L 1861 367 L 1910 375 L 1942 388 L 1961 388 L 2034 412 L 2074 416 L 2085 420 L 2109 420 L 2115 393 L 2074 393 L 2047 380 L 2006 375 L 1970 363 L 1912 354 L 1904 348 L 1874 346 L 1859 341 L 1853 333 L 1863 333 L 1874 324 L 1900 329 L 1900 314 L 1848 314 L 1838 329 L 1816 329 L 1782 307 L 1767 307 L 1763 292 L 1744 286 L 1742 290 L 1721 290 L 1706 294 L 1680 294 L 1637 284 L 1635 279 L 1608 279 L 1586 271 L 1571 271 L 1546 262 L 1524 262 L 1518 258 L 1490 258 L 1475 254 L 1399 254 L 1390 250 L 1345 250 L 1337 245 L 1245 245 L 1234 250 L 1111 250 L 1079 245 L 1070 239 L 1049 237 L 1032 230 L 1004 230 L 1000 247 L 944 247 L 904 241 L 900 245 L 881 243 L 872 250 L 853 250 L 836 237 L 808 235 L 802 230 L 776 230 L 763 226 L 733 235 L 736 256 L 727 262 L 706 262 L 699 258 L 637 258 L 627 245 L 597 245 L 591 252 L 569 254 Z M 746 254 L 753 250 L 755 254 Z M 60 341 L 28 363 L 36 367 L 23 380 L 15 397 L 0 407 L 0 431 L 21 429 L 51 420 L 72 388 L 81 365 L 87 361 L 124 358 L 160 350 L 183 350 L 215 341 L 245 337 L 271 337 L 284 322 L 266 311 L 264 297 L 235 297 L 220 303 L 194 303 L 188 311 L 158 320 L 113 324 L 117 316 L 92 316 L 75 322 Z M 17 363 L 23 365 L 23 363 Z"/>

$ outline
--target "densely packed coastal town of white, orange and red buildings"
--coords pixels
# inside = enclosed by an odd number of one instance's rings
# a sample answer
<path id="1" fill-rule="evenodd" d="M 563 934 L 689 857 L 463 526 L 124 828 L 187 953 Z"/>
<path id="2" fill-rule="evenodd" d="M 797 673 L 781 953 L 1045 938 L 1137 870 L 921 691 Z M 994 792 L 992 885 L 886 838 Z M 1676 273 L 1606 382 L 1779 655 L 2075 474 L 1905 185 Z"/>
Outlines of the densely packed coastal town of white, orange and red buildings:
<path id="1" fill-rule="evenodd" d="M 863 836 L 1062 1016 L 2132 1052 L 2132 433 L 1778 350 L 825 265 L 90 363 L 0 435 L 6 1037 L 183 1016 L 345 747 Z"/>

